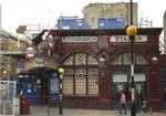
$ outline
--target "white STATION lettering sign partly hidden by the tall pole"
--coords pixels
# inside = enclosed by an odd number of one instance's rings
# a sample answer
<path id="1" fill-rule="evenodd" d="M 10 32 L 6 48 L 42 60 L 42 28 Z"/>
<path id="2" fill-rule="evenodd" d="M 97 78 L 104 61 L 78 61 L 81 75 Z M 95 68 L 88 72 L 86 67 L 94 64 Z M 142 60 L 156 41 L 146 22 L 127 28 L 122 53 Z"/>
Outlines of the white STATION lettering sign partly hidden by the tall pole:
<path id="1" fill-rule="evenodd" d="M 112 35 L 110 42 L 129 42 L 127 35 Z M 147 35 L 135 35 L 135 42 L 147 42 Z"/>

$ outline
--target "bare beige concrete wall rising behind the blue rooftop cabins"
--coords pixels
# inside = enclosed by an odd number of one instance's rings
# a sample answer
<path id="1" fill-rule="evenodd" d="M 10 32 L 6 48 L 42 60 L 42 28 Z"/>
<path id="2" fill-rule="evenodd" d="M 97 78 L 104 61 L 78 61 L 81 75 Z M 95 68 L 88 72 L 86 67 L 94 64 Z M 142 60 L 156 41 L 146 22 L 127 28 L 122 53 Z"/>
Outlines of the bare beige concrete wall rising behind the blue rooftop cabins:
<path id="1" fill-rule="evenodd" d="M 93 13 L 92 13 L 93 12 Z M 91 3 L 83 9 L 84 19 L 90 28 L 97 29 L 97 18 L 124 18 L 125 25 L 131 22 L 129 3 Z M 133 24 L 137 25 L 137 3 L 133 3 Z"/>

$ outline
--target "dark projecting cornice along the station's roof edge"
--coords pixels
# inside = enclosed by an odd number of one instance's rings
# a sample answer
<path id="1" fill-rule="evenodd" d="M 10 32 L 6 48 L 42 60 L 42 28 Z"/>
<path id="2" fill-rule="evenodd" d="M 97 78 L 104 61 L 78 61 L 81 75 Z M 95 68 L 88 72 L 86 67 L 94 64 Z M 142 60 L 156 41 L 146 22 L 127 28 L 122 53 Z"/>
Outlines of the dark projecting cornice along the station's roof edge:
<path id="1" fill-rule="evenodd" d="M 162 33 L 163 28 L 138 28 L 137 34 L 156 34 Z M 39 44 L 42 41 L 42 35 L 48 30 L 43 30 L 32 41 Z M 85 29 L 85 30 L 50 30 L 53 35 L 70 36 L 70 35 L 126 35 L 126 29 Z"/>

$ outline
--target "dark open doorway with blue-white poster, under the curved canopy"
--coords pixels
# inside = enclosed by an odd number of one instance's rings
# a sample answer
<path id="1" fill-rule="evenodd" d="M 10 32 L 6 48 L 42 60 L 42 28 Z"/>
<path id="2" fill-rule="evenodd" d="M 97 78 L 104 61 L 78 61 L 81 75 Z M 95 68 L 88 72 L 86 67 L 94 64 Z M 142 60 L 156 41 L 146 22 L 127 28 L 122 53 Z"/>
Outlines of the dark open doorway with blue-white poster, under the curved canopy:
<path id="1" fill-rule="evenodd" d="M 59 74 L 50 71 L 41 77 L 41 87 L 38 88 L 41 105 L 54 105 L 59 97 Z"/>

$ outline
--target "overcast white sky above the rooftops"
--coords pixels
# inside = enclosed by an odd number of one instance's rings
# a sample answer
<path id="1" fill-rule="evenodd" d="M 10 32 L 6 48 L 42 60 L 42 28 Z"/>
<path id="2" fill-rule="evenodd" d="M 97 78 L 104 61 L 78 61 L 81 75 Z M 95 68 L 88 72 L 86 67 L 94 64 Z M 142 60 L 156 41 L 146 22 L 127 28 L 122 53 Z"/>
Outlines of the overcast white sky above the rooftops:
<path id="1" fill-rule="evenodd" d="M 2 6 L 2 29 L 15 33 L 22 24 L 41 24 L 53 28 L 59 17 L 77 15 L 83 18 L 82 10 L 94 2 L 129 2 L 129 0 L 0 0 Z M 163 27 L 166 0 L 133 0 L 138 3 L 138 19 L 153 21 L 153 27 Z"/>

